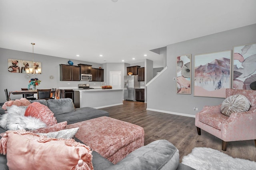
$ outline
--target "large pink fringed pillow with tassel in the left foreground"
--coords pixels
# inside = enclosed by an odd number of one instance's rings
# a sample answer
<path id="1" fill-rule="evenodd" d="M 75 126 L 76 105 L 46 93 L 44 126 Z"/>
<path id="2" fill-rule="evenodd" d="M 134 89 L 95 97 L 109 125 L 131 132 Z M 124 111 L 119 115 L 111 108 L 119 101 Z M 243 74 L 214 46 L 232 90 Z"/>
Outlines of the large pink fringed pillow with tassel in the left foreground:
<path id="1" fill-rule="evenodd" d="M 90 147 L 74 139 L 52 139 L 24 130 L 6 131 L 10 170 L 93 170 Z"/>

